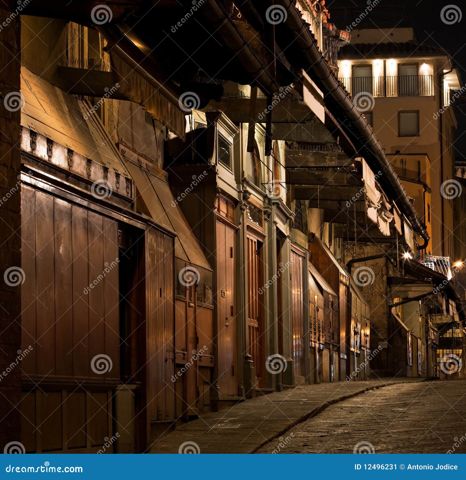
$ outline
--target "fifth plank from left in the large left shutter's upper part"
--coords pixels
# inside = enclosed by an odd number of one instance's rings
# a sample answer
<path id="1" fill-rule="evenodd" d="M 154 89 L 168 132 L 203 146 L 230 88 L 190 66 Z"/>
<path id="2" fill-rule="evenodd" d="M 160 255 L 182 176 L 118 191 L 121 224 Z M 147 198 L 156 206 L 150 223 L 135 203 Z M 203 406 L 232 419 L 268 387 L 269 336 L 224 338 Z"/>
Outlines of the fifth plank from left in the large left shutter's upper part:
<path id="1" fill-rule="evenodd" d="M 103 228 L 102 216 L 88 212 L 88 285 L 93 286 L 93 288 L 89 288 L 87 297 L 89 303 L 89 358 L 91 360 L 105 354 L 105 301 L 102 301 L 104 299 Z M 89 375 L 94 378 L 102 378 L 102 373 L 94 370 L 91 369 Z"/>

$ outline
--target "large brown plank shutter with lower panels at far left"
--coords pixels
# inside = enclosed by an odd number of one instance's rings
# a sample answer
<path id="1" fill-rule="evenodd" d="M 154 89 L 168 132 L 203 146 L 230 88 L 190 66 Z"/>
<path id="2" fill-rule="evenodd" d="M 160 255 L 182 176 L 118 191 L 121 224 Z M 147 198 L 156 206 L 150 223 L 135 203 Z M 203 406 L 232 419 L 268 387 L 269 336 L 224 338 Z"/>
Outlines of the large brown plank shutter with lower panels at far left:
<path id="1" fill-rule="evenodd" d="M 118 224 L 27 185 L 21 213 L 22 441 L 96 452 L 120 378 Z"/>

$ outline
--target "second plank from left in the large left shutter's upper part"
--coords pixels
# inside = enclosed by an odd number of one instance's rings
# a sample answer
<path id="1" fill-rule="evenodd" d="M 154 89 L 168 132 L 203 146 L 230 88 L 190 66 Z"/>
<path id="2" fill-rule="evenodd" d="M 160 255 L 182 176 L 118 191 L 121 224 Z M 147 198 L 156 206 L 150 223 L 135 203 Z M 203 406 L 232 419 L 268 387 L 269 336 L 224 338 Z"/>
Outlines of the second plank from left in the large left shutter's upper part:
<path id="1" fill-rule="evenodd" d="M 37 374 L 55 375 L 53 197 L 36 192 Z"/>

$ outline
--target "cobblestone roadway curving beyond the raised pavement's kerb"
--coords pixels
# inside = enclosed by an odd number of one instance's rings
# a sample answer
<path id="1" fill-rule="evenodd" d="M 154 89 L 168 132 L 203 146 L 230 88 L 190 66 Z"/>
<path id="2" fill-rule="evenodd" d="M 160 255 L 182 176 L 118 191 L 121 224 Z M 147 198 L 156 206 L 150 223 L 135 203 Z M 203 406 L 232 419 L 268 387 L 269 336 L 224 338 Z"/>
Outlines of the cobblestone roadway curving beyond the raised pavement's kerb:
<path id="1" fill-rule="evenodd" d="M 331 405 L 281 438 L 257 453 L 352 453 L 356 445 L 360 453 L 466 453 L 466 381 L 373 389 Z"/>

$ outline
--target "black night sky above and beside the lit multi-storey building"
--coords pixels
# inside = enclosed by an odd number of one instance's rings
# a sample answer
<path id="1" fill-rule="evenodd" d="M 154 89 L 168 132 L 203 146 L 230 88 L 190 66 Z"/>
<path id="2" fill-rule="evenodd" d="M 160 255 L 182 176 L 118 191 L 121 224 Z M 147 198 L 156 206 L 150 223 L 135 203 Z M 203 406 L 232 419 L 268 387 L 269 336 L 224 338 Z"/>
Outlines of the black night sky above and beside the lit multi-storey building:
<path id="1" fill-rule="evenodd" d="M 374 1 L 376 0 L 372 3 Z M 366 0 L 326 0 L 325 6 L 330 12 L 330 21 L 338 28 L 345 30 L 369 3 Z M 454 24 L 445 24 L 441 18 L 442 8 L 451 4 L 457 5 L 458 11 L 464 18 Z M 386 4 L 381 0 L 359 25 L 363 28 L 412 26 L 418 41 L 440 46 L 450 53 L 454 65 L 460 71 L 462 84 L 466 84 L 466 3 L 464 0 L 412 0 L 404 5 Z M 463 95 L 461 101 L 457 100 L 455 103 L 458 130 L 454 147 L 457 156 L 466 156 L 466 96 Z"/>

